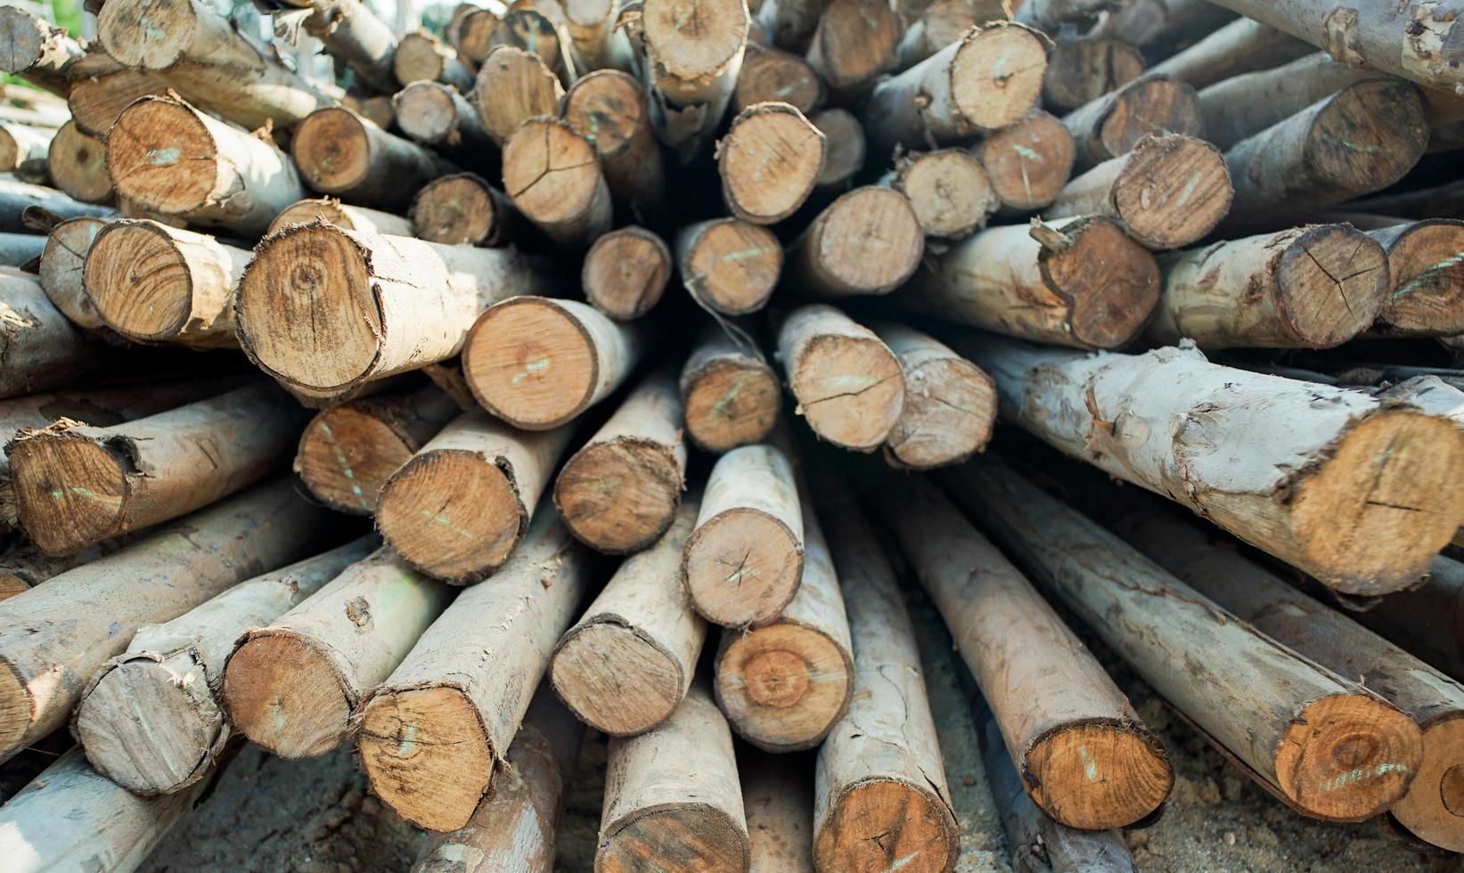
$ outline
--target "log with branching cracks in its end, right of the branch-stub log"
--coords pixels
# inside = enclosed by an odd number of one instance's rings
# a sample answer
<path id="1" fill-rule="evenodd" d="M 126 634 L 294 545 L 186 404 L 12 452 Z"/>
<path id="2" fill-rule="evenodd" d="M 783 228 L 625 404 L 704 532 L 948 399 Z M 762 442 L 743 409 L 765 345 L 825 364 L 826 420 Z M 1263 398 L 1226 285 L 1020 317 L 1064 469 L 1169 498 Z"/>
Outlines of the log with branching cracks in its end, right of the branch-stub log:
<path id="1" fill-rule="evenodd" d="M 1220 242 L 1161 265 L 1146 335 L 1165 346 L 1328 349 L 1367 330 L 1391 289 L 1386 252 L 1345 224 Z"/>

